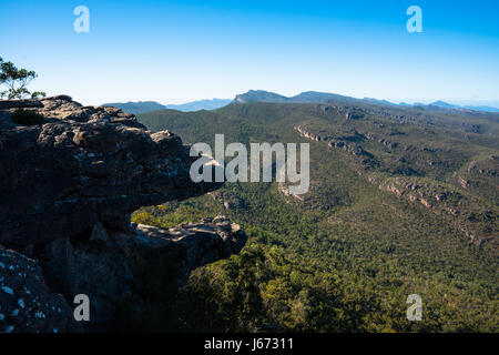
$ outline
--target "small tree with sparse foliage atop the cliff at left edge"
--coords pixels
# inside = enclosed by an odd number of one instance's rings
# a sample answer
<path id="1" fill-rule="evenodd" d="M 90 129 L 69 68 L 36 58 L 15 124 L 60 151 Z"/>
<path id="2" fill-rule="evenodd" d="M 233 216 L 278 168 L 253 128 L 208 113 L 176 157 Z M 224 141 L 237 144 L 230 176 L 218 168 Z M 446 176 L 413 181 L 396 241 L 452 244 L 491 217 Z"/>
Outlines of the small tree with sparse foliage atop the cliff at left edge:
<path id="1" fill-rule="evenodd" d="M 42 91 L 30 92 L 27 87 L 37 78 L 32 70 L 18 69 L 12 62 L 4 62 L 0 57 L 0 87 L 7 90 L 0 92 L 0 98 L 23 99 L 31 95 L 32 99 L 45 97 Z"/>

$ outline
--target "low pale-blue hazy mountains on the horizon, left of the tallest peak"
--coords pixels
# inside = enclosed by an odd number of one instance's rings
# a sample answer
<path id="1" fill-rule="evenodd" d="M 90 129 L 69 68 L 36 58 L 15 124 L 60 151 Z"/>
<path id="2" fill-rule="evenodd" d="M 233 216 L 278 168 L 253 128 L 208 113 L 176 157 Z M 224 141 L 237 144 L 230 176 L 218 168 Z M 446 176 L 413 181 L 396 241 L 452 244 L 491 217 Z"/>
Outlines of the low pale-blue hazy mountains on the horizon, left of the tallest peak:
<path id="1" fill-rule="evenodd" d="M 155 101 L 113 102 L 113 103 L 104 103 L 103 105 L 118 108 L 123 112 L 139 114 L 143 112 L 151 112 L 163 109 L 171 109 L 184 112 L 200 111 L 200 110 L 216 110 L 231 102 L 232 100 L 230 99 L 212 99 L 212 100 L 193 101 L 182 104 L 166 104 L 166 105 Z"/>

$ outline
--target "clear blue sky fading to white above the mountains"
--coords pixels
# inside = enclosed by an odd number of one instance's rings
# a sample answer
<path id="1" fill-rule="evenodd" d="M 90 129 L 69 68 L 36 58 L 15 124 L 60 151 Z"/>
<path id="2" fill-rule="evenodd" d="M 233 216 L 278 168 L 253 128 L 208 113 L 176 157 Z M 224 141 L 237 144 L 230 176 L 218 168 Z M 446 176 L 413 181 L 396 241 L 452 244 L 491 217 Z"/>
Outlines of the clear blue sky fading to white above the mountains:
<path id="1" fill-rule="evenodd" d="M 84 104 L 262 89 L 499 106 L 499 1 L 0 0 L 0 57 Z"/>

